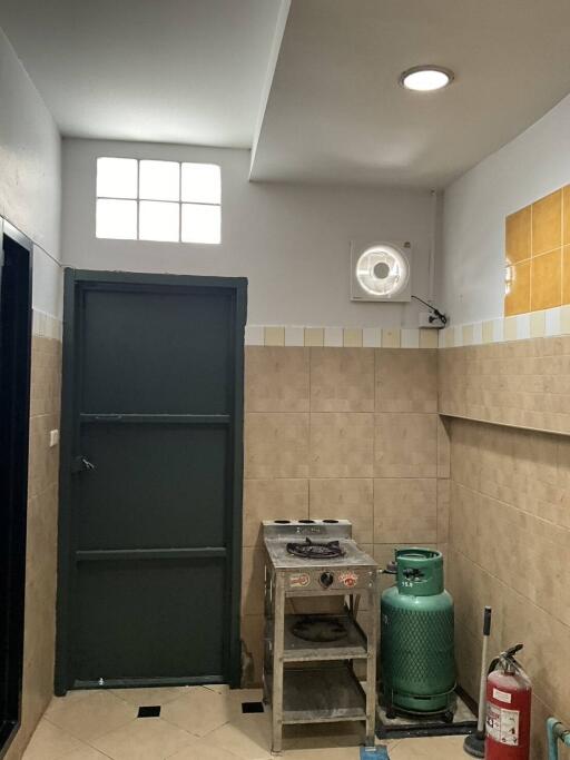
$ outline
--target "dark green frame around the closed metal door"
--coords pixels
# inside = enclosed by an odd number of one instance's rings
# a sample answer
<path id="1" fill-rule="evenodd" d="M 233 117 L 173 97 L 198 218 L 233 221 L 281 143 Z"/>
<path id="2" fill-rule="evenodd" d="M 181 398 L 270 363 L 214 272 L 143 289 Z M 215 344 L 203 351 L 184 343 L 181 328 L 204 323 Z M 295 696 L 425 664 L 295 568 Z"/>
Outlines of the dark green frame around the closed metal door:
<path id="1" fill-rule="evenodd" d="M 63 359 L 61 386 L 61 452 L 59 475 L 59 527 L 58 527 L 58 594 L 56 629 L 56 671 L 55 692 L 63 695 L 68 689 L 77 688 L 72 682 L 70 668 L 70 625 L 72 584 L 76 578 L 76 547 L 72 545 L 72 477 L 75 457 L 79 455 L 77 440 L 79 398 L 76 389 L 80 387 L 78 376 L 80 362 L 78 352 L 81 329 L 81 309 L 78 308 L 82 294 L 92 287 L 116 289 L 117 286 L 164 287 L 170 286 L 176 293 L 199 288 L 224 288 L 232 293 L 234 300 L 233 345 L 235 351 L 234 398 L 233 398 L 233 462 L 232 462 L 232 524 L 228 531 L 229 550 L 229 645 L 227 679 L 230 688 L 238 688 L 242 675 L 240 645 L 240 596 L 242 596 L 242 500 L 244 473 L 244 333 L 247 315 L 247 278 L 245 277 L 203 277 L 197 275 L 158 275 L 131 272 L 99 272 L 95 269 L 65 270 L 63 289 Z M 197 677 L 193 682 L 206 683 L 207 679 Z M 145 679 L 136 685 L 173 685 L 189 683 L 188 679 L 177 681 L 171 678 Z M 82 688 L 86 688 L 81 683 Z M 108 688 L 134 685 L 132 683 L 109 681 Z"/>

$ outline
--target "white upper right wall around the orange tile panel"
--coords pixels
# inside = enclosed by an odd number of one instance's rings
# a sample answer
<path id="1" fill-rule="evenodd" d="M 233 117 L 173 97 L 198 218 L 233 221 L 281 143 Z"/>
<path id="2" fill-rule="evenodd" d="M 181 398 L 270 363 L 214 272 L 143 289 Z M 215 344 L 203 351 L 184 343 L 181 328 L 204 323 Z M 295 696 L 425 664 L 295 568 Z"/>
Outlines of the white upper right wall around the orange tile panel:
<path id="1" fill-rule="evenodd" d="M 570 96 L 444 194 L 441 300 L 453 324 L 502 317 L 504 217 L 570 182 Z"/>

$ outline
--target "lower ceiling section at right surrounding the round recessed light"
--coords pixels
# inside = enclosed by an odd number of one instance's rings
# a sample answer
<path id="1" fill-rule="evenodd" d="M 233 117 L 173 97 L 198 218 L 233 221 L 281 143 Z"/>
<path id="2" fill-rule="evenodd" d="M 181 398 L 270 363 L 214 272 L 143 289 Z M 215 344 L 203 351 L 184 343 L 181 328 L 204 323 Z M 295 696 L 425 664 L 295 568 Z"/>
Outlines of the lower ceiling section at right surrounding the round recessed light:
<path id="1" fill-rule="evenodd" d="M 253 179 L 442 187 L 570 91 L 568 0 L 293 0 Z M 397 83 L 416 65 L 445 90 Z"/>

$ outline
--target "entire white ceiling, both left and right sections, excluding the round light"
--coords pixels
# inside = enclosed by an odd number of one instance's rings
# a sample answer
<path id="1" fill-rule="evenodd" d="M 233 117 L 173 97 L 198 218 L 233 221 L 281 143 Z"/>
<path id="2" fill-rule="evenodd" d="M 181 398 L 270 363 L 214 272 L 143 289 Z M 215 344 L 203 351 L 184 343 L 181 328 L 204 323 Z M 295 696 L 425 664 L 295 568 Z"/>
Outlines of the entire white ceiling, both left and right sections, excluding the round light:
<path id="1" fill-rule="evenodd" d="M 253 146 L 255 180 L 440 188 L 570 92 L 568 0 L 288 7 L 0 0 L 0 26 L 65 135 Z M 401 88 L 420 63 L 456 79 Z"/>

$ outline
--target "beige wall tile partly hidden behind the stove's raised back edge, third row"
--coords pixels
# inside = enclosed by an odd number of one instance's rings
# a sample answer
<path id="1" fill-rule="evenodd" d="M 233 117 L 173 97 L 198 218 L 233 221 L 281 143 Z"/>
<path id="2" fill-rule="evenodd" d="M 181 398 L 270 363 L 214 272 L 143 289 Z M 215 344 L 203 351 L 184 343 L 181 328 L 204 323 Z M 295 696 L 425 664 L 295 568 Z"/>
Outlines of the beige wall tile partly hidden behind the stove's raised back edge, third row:
<path id="1" fill-rule="evenodd" d="M 323 478 L 309 481 L 312 520 L 350 520 L 353 539 L 371 543 L 373 526 L 372 478 Z"/>

